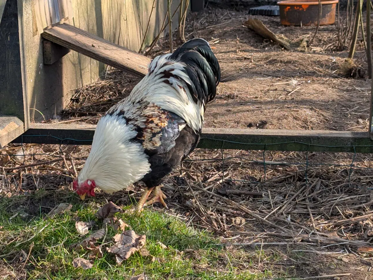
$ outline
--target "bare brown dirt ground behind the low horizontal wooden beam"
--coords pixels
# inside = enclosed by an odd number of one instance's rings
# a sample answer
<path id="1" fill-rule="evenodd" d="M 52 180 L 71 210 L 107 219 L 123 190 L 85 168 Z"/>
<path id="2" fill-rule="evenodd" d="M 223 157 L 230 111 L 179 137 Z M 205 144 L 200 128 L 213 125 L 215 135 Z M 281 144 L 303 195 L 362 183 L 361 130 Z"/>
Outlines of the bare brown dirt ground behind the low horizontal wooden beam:
<path id="1" fill-rule="evenodd" d="M 335 51 L 334 25 L 320 27 L 315 44 L 304 53 L 283 50 L 243 27 L 248 18 L 245 12 L 213 9 L 204 16 L 192 14 L 190 17 L 188 38 L 210 41 L 222 69 L 217 97 L 206 112 L 206 127 L 256 128 L 256 124 L 264 120 L 269 129 L 367 131 L 370 81 L 345 77 L 347 50 Z M 310 40 L 314 32 L 314 27 L 283 27 L 279 17 L 256 18 L 273 32 L 294 41 Z M 167 52 L 164 49 L 167 41 L 163 43 L 159 44 L 161 51 L 154 52 L 153 56 Z M 355 63 L 366 67 L 365 50 L 360 43 Z M 104 113 L 112 103 L 101 106 L 103 101 L 123 98 L 139 81 L 124 76 L 125 80 L 110 81 L 125 84 L 121 92 L 116 92 L 118 96 L 110 92 L 94 96 L 99 106 L 96 108 L 90 97 L 79 95 L 79 100 L 75 99 L 79 102 L 63 116 L 87 116 L 86 104 L 91 108 L 89 111 Z M 292 80 L 297 83 L 284 84 Z"/>

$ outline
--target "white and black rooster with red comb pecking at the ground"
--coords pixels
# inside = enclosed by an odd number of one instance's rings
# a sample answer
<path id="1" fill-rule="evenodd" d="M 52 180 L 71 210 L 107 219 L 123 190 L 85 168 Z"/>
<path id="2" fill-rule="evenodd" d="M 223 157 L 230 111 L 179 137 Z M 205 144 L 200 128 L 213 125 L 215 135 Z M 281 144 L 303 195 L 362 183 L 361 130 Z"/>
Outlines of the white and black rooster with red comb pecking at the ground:
<path id="1" fill-rule="evenodd" d="M 95 196 L 95 187 L 113 193 L 142 181 L 146 189 L 136 208 L 154 202 L 167 208 L 162 179 L 197 146 L 206 104 L 219 82 L 219 62 L 203 39 L 155 57 L 131 94 L 98 122 L 91 152 L 73 182 L 76 193 L 84 199 Z"/>

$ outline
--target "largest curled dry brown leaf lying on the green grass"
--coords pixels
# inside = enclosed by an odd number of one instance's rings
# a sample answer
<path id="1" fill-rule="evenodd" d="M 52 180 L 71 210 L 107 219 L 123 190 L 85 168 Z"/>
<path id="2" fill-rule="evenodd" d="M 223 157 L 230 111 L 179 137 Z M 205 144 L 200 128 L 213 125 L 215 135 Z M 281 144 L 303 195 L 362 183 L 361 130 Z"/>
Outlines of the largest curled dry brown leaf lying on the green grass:
<path id="1" fill-rule="evenodd" d="M 121 234 L 116 234 L 113 240 L 116 243 L 106 249 L 108 252 L 115 254 L 116 262 L 120 264 L 125 259 L 128 259 L 134 252 L 144 247 L 146 236 L 140 236 L 133 230 L 127 230 Z"/>

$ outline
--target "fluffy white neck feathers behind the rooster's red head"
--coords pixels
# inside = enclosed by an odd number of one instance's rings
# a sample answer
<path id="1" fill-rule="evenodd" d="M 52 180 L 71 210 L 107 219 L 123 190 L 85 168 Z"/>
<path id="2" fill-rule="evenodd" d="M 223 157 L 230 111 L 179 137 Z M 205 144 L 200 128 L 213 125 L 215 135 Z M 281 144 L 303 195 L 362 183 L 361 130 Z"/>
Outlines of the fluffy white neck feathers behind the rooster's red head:
<path id="1" fill-rule="evenodd" d="M 126 189 L 150 172 L 150 164 L 132 125 L 122 117 L 106 115 L 97 124 L 90 155 L 78 175 L 78 183 L 94 180 L 107 193 Z"/>

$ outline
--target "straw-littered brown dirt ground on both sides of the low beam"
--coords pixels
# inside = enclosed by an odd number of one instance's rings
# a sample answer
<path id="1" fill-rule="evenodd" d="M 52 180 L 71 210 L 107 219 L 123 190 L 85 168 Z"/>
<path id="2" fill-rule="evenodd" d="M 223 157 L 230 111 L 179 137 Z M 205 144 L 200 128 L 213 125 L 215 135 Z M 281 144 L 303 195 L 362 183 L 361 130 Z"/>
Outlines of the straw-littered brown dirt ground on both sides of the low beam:
<path id="1" fill-rule="evenodd" d="M 216 99 L 207 106 L 205 127 L 256 129 L 260 121 L 266 121 L 262 128 L 368 130 L 370 81 L 346 77 L 347 50 L 337 51 L 336 25 L 320 27 L 308 51 L 296 52 L 244 27 L 247 18 L 246 11 L 213 5 L 188 16 L 187 39 L 208 40 L 222 69 Z M 256 18 L 293 41 L 310 40 L 315 30 L 283 27 L 278 17 Z M 166 53 L 167 48 L 164 38 L 151 55 Z M 365 59 L 359 38 L 354 62 L 366 69 Z M 297 83 L 287 83 L 293 80 Z M 97 123 L 138 81 L 108 70 L 97 83 L 76 90 L 59 121 Z M 1 150 L 0 165 L 12 168 L 62 155 L 72 158 L 71 162 L 22 169 L 25 171 L 9 169 L 3 176 L 8 183 L 3 183 L 1 195 L 24 195 L 37 189 L 48 192 L 31 204 L 29 200 L 17 202 L 8 211 L 22 209 L 27 215 L 37 215 L 40 209 L 48 212 L 59 203 L 54 191 L 71 188 L 73 168 L 82 168 L 89 147 L 26 145 L 24 149 L 25 155 L 32 156 L 23 158 L 22 149 L 14 145 Z M 18 157 L 4 162 L 6 155 L 15 152 Z M 263 165 L 263 158 L 267 165 Z M 352 164 L 362 168 L 351 168 Z M 373 279 L 373 253 L 364 249 L 373 239 L 372 168 L 372 155 L 363 154 L 197 150 L 169 176 L 164 190 L 172 215 L 213 232 L 231 253 L 263 248 L 265 256 L 259 262 L 246 256 L 235 267 L 250 267 L 253 273 L 271 271 L 273 277 L 350 273 L 336 277 L 367 280 Z M 135 184 L 130 192 L 113 196 L 99 193 L 97 199 L 127 205 L 141 195 L 142 187 Z M 226 190 L 264 196 L 227 195 Z"/>

